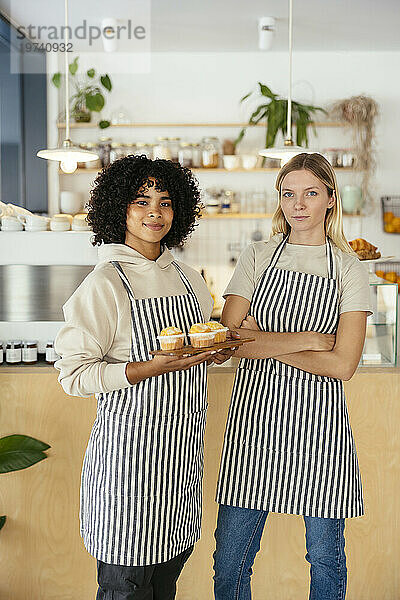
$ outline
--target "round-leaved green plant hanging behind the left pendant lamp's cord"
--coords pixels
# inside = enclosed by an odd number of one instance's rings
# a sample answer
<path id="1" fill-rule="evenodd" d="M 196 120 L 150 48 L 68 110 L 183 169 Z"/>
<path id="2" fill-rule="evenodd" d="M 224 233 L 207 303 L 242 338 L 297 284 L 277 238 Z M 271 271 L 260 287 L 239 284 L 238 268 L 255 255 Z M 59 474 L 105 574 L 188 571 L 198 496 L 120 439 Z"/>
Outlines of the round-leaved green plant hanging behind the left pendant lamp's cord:
<path id="1" fill-rule="evenodd" d="M 95 69 L 88 69 L 85 75 L 79 76 L 77 56 L 69 64 L 69 73 L 71 81 L 75 88 L 75 93 L 70 98 L 71 116 L 76 123 L 89 123 L 92 118 L 92 112 L 100 112 L 104 108 L 105 97 L 104 90 L 111 92 L 112 83 L 110 77 L 105 75 L 96 75 Z M 52 77 L 53 84 L 61 87 L 61 73 L 54 73 Z M 99 121 L 99 127 L 105 129 L 110 126 L 106 120 Z"/>

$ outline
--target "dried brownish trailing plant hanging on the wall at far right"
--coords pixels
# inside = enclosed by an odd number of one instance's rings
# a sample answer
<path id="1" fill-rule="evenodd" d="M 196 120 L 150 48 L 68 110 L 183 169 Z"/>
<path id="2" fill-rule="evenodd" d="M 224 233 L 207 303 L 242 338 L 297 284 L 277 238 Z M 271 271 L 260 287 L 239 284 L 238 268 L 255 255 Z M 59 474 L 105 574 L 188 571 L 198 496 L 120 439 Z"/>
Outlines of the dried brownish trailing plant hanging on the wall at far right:
<path id="1" fill-rule="evenodd" d="M 370 180 L 376 168 L 375 125 L 379 106 L 368 96 L 352 96 L 335 102 L 330 110 L 333 119 L 346 123 L 352 131 L 355 169 L 362 172 L 361 191 L 364 202 L 372 200 Z"/>

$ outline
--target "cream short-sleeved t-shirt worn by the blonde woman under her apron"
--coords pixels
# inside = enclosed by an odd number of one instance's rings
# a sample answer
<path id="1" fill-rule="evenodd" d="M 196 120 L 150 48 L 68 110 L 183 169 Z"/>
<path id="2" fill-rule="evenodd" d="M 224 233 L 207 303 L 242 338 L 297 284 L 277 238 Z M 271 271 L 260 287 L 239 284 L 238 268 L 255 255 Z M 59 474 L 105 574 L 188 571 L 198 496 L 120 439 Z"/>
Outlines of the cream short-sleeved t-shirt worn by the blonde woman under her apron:
<path id="1" fill-rule="evenodd" d="M 255 242 L 242 252 L 224 298 L 234 294 L 251 301 L 256 285 L 282 238 L 283 234 L 276 234 L 268 242 Z M 350 311 L 372 314 L 367 269 L 356 256 L 342 252 L 334 244 L 332 248 L 337 265 L 339 314 Z M 287 242 L 276 268 L 327 277 L 326 244 L 303 246 Z"/>

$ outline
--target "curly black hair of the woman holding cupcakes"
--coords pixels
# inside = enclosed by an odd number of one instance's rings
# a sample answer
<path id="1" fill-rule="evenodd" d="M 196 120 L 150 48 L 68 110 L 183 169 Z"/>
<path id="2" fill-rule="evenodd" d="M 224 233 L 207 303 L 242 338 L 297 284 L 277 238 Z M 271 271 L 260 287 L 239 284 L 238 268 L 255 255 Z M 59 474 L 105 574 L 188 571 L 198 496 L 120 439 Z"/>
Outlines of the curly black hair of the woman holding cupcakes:
<path id="1" fill-rule="evenodd" d="M 178 163 L 150 160 L 144 155 L 120 158 L 96 177 L 87 203 L 87 222 L 94 233 L 93 246 L 125 243 L 128 205 L 149 177 L 155 179 L 157 191 L 169 193 L 174 211 L 171 229 L 161 243 L 168 248 L 183 246 L 200 214 L 198 181 L 190 169 Z"/>

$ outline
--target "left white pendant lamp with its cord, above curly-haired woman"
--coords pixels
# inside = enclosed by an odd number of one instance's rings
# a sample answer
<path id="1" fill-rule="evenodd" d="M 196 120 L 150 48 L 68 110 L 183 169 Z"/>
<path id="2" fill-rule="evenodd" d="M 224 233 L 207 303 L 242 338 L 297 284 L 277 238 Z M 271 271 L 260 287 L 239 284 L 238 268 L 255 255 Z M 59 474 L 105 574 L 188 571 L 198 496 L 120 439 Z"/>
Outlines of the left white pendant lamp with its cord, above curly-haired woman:
<path id="1" fill-rule="evenodd" d="M 68 32 L 68 0 L 65 0 L 65 27 L 64 27 L 64 43 L 67 48 L 69 41 Z M 60 167 L 64 173 L 73 173 L 78 162 L 90 162 L 97 160 L 99 155 L 96 152 L 89 152 L 75 146 L 69 139 L 69 78 L 68 78 L 68 52 L 64 52 L 65 59 L 65 139 L 61 148 L 48 148 L 39 150 L 37 156 L 46 158 L 47 160 L 60 161 Z"/>

